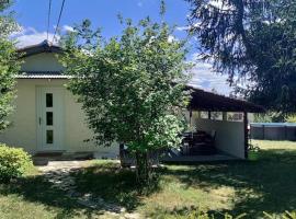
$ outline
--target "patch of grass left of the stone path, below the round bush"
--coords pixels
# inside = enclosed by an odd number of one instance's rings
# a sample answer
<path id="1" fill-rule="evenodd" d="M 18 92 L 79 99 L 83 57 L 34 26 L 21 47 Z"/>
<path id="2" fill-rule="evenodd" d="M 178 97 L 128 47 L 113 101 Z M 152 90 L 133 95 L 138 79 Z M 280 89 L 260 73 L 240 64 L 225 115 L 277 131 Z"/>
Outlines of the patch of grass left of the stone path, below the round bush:
<path id="1" fill-rule="evenodd" d="M 33 175 L 34 173 L 34 175 Z M 88 218 L 89 209 L 57 188 L 50 188 L 43 176 L 33 169 L 23 180 L 0 184 L 0 219 Z"/>

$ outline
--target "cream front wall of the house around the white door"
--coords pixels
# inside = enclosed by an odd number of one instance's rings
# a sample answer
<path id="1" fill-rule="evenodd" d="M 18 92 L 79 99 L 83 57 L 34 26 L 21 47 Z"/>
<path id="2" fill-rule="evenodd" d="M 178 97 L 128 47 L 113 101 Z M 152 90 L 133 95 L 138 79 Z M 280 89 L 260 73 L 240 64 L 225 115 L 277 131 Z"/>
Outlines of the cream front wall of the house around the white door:
<path id="1" fill-rule="evenodd" d="M 86 124 L 86 116 L 81 105 L 73 95 L 64 87 L 67 80 L 61 79 L 19 79 L 16 84 L 18 97 L 15 111 L 11 115 L 12 125 L 0 135 L 0 141 L 10 146 L 22 147 L 31 153 L 43 151 L 37 145 L 37 115 L 36 115 L 36 88 L 60 87 L 64 95 L 64 145 L 60 150 L 65 152 L 93 151 L 99 157 L 116 157 L 118 145 L 111 148 L 98 147 L 94 142 L 84 142 L 92 136 Z"/>

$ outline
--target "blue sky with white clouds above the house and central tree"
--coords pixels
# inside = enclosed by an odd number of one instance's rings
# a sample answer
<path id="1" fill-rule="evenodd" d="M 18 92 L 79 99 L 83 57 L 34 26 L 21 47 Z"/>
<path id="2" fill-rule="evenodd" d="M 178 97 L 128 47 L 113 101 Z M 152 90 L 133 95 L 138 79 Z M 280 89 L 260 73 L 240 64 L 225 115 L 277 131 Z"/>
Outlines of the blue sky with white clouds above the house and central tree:
<path id="1" fill-rule="evenodd" d="M 12 9 L 16 12 L 15 18 L 22 26 L 22 31 L 14 35 L 19 39 L 19 46 L 38 44 L 46 39 L 47 13 L 49 0 L 14 0 Z M 49 41 L 57 23 L 58 13 L 62 0 L 52 0 L 52 15 L 49 26 Z M 60 31 L 69 31 L 75 23 L 80 23 L 83 19 L 90 19 L 93 26 L 102 27 L 105 37 L 121 34 L 121 24 L 117 14 L 138 21 L 147 15 L 153 20 L 159 20 L 160 0 L 66 0 L 60 21 Z M 184 27 L 187 25 L 186 16 L 190 13 L 190 5 L 184 0 L 167 0 L 166 21 L 172 25 L 178 25 L 174 33 L 175 38 L 186 36 Z M 191 45 L 190 60 L 195 60 L 197 51 Z M 226 85 L 226 78 L 217 76 L 210 70 L 210 64 L 197 61 L 192 69 L 192 84 L 228 94 L 229 88 Z"/>

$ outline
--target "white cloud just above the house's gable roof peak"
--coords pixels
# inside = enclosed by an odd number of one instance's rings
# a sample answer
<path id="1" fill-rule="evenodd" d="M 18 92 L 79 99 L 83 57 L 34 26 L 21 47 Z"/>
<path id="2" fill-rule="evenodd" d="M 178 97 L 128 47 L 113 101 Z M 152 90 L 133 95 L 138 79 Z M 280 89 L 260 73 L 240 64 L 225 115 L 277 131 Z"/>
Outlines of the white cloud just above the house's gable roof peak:
<path id="1" fill-rule="evenodd" d="M 48 33 L 48 41 L 52 42 L 54 33 Z M 18 47 L 25 47 L 30 45 L 39 44 L 47 38 L 46 32 L 38 32 L 34 27 L 22 27 L 20 32 L 15 32 L 11 35 L 12 39 L 15 39 Z M 60 36 L 57 34 L 54 44 L 57 44 Z"/>

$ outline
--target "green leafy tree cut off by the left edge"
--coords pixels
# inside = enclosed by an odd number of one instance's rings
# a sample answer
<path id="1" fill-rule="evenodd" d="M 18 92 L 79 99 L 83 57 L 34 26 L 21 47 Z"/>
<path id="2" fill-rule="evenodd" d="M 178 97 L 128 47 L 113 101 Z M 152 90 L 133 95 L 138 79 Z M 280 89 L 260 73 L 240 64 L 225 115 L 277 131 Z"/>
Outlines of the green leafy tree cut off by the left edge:
<path id="1" fill-rule="evenodd" d="M 9 39 L 10 34 L 18 30 L 13 13 L 5 12 L 9 5 L 0 3 L 0 130 L 10 124 L 8 115 L 13 110 L 14 76 L 20 68 L 15 45 Z"/>

